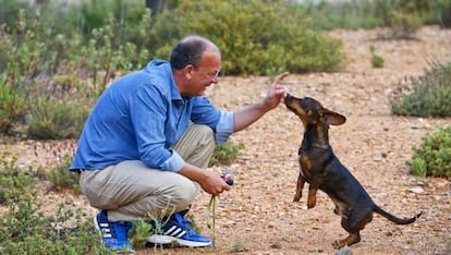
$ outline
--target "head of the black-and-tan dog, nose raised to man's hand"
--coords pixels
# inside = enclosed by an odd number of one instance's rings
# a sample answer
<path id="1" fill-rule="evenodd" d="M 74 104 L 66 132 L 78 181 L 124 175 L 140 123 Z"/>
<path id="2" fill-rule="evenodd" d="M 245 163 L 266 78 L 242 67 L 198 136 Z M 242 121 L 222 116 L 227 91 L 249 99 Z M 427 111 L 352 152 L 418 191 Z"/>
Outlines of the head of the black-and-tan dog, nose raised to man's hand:
<path id="1" fill-rule="evenodd" d="M 304 126 L 308 124 L 341 125 L 346 118 L 340 113 L 328 110 L 312 97 L 297 98 L 290 94 L 285 97 L 285 106 L 300 117 Z"/>

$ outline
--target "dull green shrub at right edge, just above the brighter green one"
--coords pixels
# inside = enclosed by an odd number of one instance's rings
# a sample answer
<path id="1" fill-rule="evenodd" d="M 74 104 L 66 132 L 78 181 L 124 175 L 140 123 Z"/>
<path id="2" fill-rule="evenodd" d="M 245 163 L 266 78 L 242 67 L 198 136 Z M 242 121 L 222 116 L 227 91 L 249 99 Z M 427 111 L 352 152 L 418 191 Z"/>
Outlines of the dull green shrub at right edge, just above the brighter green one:
<path id="1" fill-rule="evenodd" d="M 413 93 L 391 99 L 391 111 L 398 116 L 450 117 L 451 63 L 436 64 L 423 76 L 412 78 Z"/>

